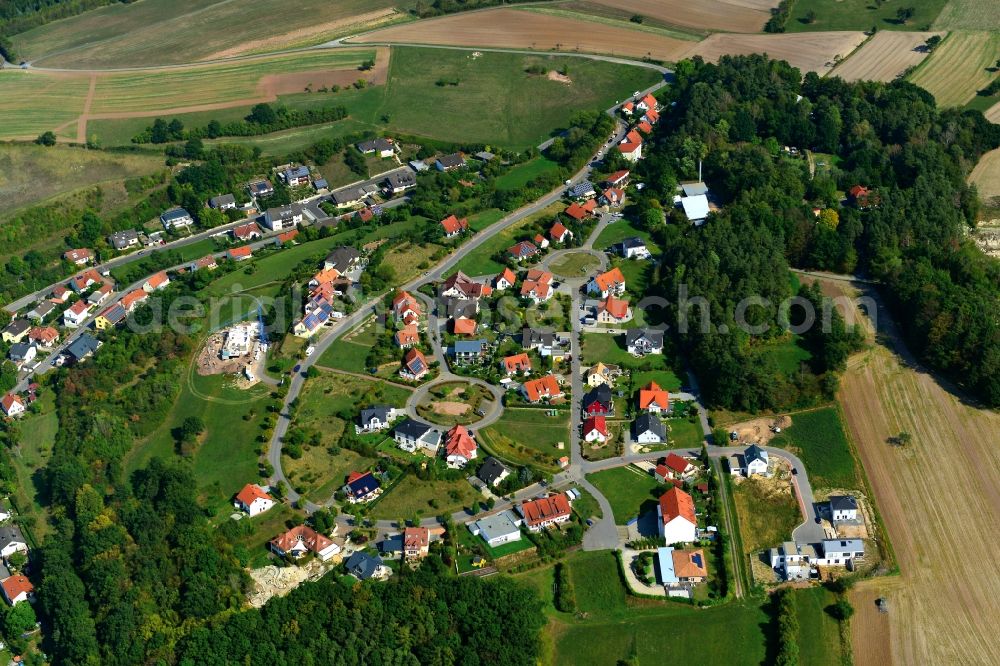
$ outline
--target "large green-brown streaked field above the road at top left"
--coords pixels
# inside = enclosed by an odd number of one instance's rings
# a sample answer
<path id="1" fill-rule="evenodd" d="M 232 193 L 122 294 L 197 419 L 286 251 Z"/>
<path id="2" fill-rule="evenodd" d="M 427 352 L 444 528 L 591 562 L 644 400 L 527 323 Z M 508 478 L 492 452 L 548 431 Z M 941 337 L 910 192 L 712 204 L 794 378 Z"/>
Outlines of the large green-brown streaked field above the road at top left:
<path id="1" fill-rule="evenodd" d="M 46 67 L 167 65 L 319 43 L 391 20 L 393 0 L 143 0 L 16 35 Z M 397 18 L 402 16 L 397 15 Z"/>

